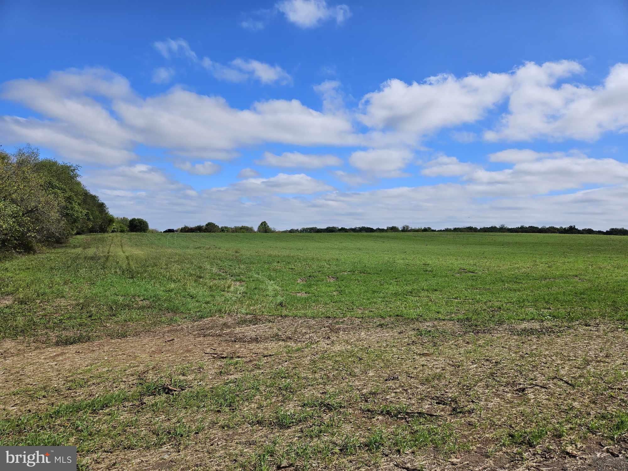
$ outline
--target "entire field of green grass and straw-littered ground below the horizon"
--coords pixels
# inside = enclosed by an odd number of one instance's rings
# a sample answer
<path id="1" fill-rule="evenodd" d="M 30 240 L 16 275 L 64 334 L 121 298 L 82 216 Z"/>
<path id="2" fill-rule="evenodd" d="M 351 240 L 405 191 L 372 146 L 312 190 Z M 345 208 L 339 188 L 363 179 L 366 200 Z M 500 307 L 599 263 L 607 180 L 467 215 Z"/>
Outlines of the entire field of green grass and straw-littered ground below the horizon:
<path id="1" fill-rule="evenodd" d="M 0 446 L 82 470 L 628 453 L 628 237 L 103 234 L 0 269 Z"/>

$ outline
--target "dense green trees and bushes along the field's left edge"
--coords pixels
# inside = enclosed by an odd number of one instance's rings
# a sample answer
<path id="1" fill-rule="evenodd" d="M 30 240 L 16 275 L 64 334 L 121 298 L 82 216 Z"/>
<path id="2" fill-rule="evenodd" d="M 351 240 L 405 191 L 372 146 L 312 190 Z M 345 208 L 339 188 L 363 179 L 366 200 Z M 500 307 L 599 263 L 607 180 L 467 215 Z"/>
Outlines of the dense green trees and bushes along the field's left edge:
<path id="1" fill-rule="evenodd" d="M 29 145 L 0 149 L 0 253 L 35 252 L 77 234 L 149 230 L 143 219 L 112 216 L 80 182 L 79 170 L 42 159 Z"/>

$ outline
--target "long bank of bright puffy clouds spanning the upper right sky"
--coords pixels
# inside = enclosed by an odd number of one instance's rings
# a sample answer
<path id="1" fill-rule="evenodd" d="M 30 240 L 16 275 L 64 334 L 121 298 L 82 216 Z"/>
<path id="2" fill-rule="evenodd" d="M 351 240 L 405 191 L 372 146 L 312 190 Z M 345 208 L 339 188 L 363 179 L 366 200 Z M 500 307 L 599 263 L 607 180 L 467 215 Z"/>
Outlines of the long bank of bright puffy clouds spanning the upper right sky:
<path id="1" fill-rule="evenodd" d="M 628 131 L 628 64 L 612 67 L 602 85 L 559 85 L 583 72 L 579 63 L 562 60 L 463 78 L 440 74 L 421 83 L 391 79 L 364 95 L 357 119 L 395 138 L 417 141 L 443 128 L 479 122 L 507 102 L 508 112 L 484 139 L 591 141 L 607 131 Z M 453 137 L 468 142 L 474 136 Z"/>

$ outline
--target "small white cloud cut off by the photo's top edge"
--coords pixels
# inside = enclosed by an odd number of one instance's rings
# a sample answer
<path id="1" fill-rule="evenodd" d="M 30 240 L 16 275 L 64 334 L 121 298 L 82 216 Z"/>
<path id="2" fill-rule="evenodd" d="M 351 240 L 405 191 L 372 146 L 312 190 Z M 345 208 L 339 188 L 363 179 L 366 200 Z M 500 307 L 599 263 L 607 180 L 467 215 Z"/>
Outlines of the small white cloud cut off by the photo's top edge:
<path id="1" fill-rule="evenodd" d="M 325 0 L 284 0 L 275 6 L 290 23 L 300 28 L 314 28 L 329 19 L 342 24 L 351 16 L 349 6 L 341 4 L 330 7 Z"/>

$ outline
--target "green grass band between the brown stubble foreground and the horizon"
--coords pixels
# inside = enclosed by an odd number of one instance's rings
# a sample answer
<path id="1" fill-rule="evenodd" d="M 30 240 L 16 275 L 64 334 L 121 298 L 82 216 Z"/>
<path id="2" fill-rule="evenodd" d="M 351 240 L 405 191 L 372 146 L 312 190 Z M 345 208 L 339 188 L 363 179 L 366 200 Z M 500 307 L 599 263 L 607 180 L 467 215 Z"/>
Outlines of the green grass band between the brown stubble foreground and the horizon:
<path id="1" fill-rule="evenodd" d="M 0 335 L 58 344 L 229 314 L 628 319 L 619 236 L 99 234 L 0 267 Z"/>

